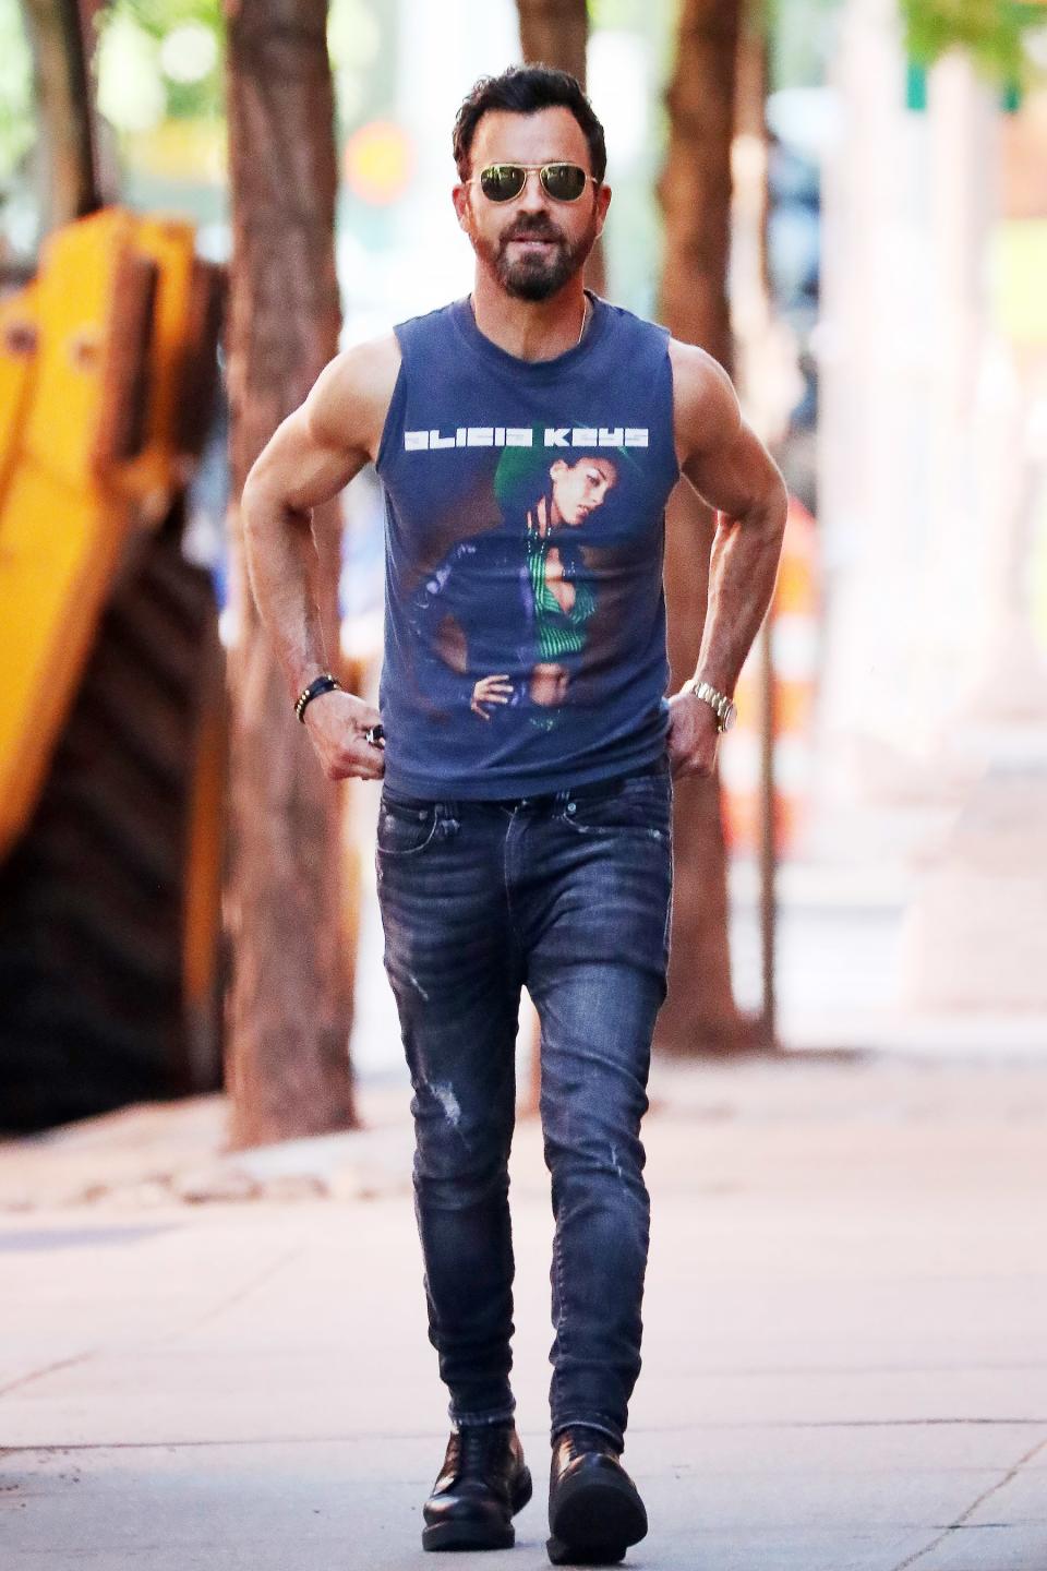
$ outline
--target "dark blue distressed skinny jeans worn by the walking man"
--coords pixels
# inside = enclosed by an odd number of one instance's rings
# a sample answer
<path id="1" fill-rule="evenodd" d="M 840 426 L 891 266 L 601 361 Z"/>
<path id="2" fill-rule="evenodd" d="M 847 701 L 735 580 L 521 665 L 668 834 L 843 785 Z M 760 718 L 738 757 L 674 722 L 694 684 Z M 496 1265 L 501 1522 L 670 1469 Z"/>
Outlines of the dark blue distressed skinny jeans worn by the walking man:
<path id="1" fill-rule="evenodd" d="M 429 1337 L 457 1425 L 513 1414 L 507 1159 L 526 983 L 553 1180 L 553 1436 L 623 1445 L 650 1238 L 640 1119 L 666 996 L 672 781 L 505 803 L 383 790 L 378 897 L 414 1097 Z"/>

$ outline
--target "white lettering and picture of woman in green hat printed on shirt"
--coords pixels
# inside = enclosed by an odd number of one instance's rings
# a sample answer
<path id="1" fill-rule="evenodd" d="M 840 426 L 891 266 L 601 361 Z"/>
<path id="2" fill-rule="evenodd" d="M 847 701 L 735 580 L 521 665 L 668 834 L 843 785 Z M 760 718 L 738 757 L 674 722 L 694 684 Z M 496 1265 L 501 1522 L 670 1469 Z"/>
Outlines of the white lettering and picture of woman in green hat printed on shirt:
<path id="1" fill-rule="evenodd" d="M 592 443 L 543 440 L 562 434 L 590 437 Z M 512 441 L 498 443 L 502 451 L 491 478 L 488 526 L 458 540 L 425 575 L 411 602 L 410 625 L 418 649 L 427 652 L 422 669 L 432 694 L 468 707 L 477 723 L 513 709 L 529 726 L 551 731 L 586 665 L 601 558 L 622 529 L 618 520 L 615 531 L 611 501 L 618 500 L 614 493 L 622 495 L 637 465 L 623 443 L 600 445 L 604 432 L 595 427 L 518 427 L 509 435 Z M 614 435 L 622 437 L 623 429 Z M 645 430 L 629 435 L 634 446 L 645 445 L 637 440 Z M 414 441 L 405 446 L 438 451 Z M 493 622 L 501 649 L 491 647 Z M 485 661 L 488 652 L 494 668 Z M 505 661 L 507 652 L 512 661 Z M 455 676 L 468 680 L 455 682 Z"/>

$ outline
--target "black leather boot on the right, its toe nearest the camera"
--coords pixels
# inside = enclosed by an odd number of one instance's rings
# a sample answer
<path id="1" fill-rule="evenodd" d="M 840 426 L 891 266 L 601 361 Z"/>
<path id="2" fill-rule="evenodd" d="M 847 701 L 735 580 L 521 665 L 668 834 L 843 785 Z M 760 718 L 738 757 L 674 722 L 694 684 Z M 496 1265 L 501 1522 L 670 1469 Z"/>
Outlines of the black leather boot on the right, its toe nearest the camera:
<path id="1" fill-rule="evenodd" d="M 639 1491 L 598 1430 L 562 1430 L 549 1469 L 549 1533 L 554 1566 L 609 1566 L 647 1533 Z"/>

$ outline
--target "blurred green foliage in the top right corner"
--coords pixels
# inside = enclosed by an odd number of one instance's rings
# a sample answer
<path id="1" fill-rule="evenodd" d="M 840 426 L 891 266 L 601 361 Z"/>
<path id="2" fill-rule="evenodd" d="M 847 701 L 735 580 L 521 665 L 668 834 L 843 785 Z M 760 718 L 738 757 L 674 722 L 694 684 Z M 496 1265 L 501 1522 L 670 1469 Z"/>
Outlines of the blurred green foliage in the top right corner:
<path id="1" fill-rule="evenodd" d="M 1033 66 L 1023 35 L 1047 25 L 1047 5 L 1022 0 L 899 0 L 910 57 L 931 66 L 964 49 L 983 75 L 1001 85 L 1025 82 Z"/>

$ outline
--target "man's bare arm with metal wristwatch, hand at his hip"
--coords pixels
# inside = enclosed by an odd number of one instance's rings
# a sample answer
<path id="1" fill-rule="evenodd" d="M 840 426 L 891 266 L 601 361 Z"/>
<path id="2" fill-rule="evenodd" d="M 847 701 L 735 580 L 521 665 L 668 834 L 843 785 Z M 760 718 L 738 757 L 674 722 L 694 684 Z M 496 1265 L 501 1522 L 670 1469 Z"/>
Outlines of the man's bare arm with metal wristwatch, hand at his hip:
<path id="1" fill-rule="evenodd" d="M 746 655 L 774 594 L 786 492 L 766 448 L 749 429 L 727 372 L 692 344 L 670 346 L 680 467 L 719 514 L 705 630 L 695 677 L 733 696 Z M 692 694 L 670 699 L 670 756 L 680 775 L 710 775 L 716 715 Z"/>

